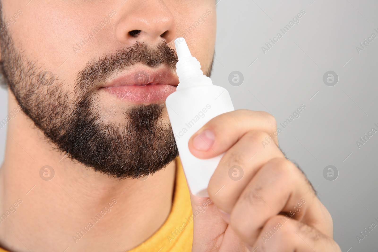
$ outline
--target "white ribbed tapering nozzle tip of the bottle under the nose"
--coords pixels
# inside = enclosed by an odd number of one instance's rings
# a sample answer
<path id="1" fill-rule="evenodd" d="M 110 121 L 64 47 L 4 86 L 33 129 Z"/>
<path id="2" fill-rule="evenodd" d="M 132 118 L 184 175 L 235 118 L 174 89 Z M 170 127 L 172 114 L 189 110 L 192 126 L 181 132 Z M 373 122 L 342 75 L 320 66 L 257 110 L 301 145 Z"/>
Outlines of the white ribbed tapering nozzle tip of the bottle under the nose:
<path id="1" fill-rule="evenodd" d="M 198 85 L 212 85 L 211 79 L 201 70 L 198 60 L 192 56 L 184 38 L 175 40 L 178 62 L 176 63 L 176 73 L 180 83 L 177 90 Z M 193 79 L 193 81 L 190 81 Z"/>

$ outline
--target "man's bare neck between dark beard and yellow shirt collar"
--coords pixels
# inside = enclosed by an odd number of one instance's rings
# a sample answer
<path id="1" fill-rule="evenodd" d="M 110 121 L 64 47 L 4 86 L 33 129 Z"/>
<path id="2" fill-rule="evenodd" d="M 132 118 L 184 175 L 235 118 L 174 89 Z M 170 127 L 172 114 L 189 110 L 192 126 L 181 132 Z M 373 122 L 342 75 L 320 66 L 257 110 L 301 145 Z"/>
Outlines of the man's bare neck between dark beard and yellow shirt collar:
<path id="1" fill-rule="evenodd" d="M 22 111 L 14 112 L 18 103 L 9 91 L 8 97 L 15 117 L 8 121 L 0 170 L 1 246 L 116 252 L 138 246 L 159 229 L 172 205 L 175 161 L 147 179 L 94 172 L 55 150 Z M 45 165 L 52 169 L 40 172 Z M 53 173 L 53 179 L 42 179 Z"/>

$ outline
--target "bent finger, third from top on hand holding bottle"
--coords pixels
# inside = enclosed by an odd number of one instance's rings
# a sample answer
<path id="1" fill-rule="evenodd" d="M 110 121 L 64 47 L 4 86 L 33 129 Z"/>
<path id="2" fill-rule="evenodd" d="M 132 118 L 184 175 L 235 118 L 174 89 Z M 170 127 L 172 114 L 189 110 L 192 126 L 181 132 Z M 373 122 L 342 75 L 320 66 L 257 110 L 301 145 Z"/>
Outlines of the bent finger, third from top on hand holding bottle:
<path id="1" fill-rule="evenodd" d="M 285 219 L 302 220 L 315 199 L 302 176 L 284 158 L 271 159 L 263 165 L 232 209 L 230 225 L 235 232 L 253 243 L 264 223 L 278 213 L 287 213 Z"/>

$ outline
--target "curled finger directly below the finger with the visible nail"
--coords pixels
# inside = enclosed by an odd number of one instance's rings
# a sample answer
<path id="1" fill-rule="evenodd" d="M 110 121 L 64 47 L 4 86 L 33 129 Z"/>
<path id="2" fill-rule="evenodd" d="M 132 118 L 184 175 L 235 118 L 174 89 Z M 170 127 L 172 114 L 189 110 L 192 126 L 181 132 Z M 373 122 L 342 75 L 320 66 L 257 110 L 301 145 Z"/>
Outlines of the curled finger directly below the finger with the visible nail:
<path id="1" fill-rule="evenodd" d="M 223 156 L 212 175 L 208 193 L 217 207 L 231 213 L 237 199 L 263 164 L 283 158 L 276 144 L 262 145 L 264 131 L 249 131 Z"/>

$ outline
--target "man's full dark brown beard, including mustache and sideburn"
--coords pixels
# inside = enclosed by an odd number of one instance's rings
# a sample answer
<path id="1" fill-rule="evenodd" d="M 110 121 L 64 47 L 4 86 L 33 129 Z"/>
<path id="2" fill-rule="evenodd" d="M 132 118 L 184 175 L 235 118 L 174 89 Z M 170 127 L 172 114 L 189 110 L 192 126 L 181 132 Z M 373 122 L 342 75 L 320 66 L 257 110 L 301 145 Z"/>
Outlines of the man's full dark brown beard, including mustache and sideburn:
<path id="1" fill-rule="evenodd" d="M 1 19 L 0 27 L 3 26 Z M 170 124 L 161 117 L 164 104 L 139 105 L 123 111 L 124 124 L 105 124 L 93 97 L 96 85 L 135 63 L 175 69 L 177 55 L 166 43 L 157 48 L 136 43 L 88 63 L 75 90 L 19 51 L 8 30 L 0 35 L 0 70 L 23 112 L 60 152 L 116 178 L 138 178 L 169 164 L 178 150 Z"/>

